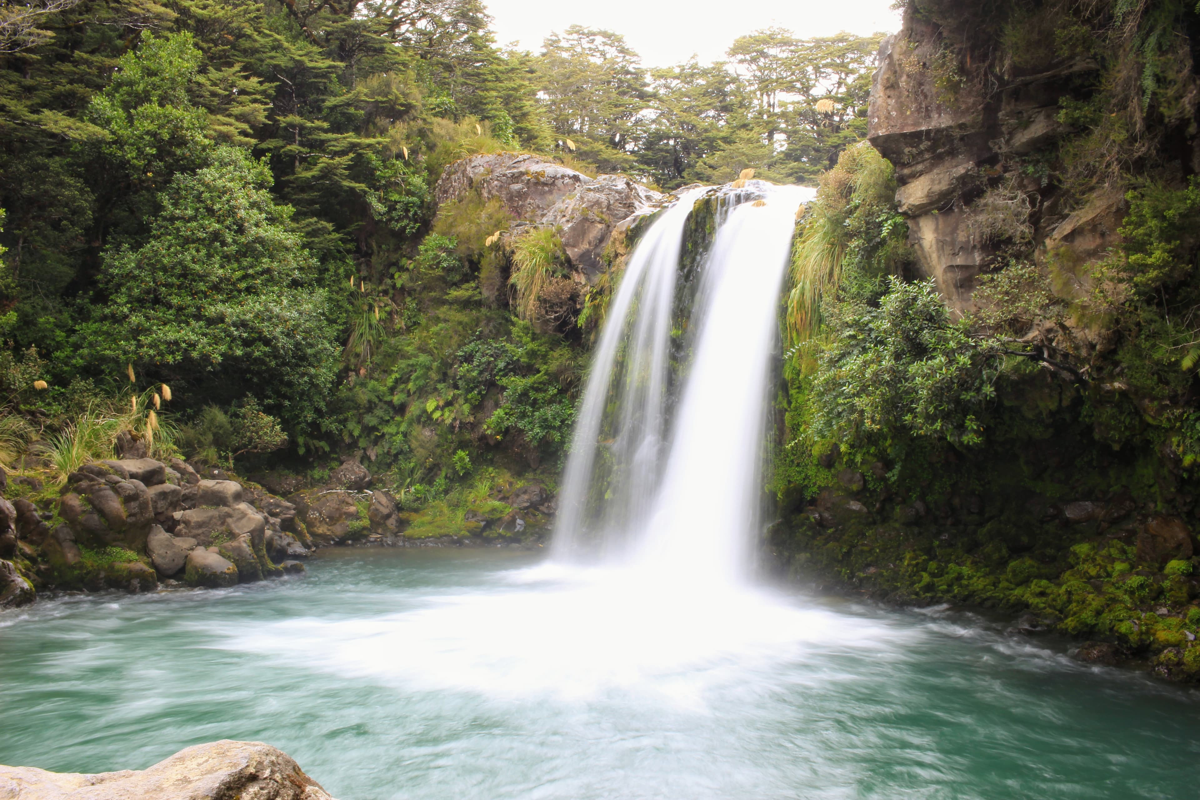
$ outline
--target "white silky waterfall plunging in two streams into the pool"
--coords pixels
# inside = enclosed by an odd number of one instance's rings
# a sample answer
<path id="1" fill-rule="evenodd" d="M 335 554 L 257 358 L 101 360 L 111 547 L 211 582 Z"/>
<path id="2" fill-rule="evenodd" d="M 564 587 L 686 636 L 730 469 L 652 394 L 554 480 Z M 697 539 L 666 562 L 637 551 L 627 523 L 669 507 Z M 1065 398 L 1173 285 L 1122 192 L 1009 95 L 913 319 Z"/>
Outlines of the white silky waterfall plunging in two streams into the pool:
<path id="1" fill-rule="evenodd" d="M 698 285 L 680 285 L 684 227 L 716 192 Z M 736 581 L 761 492 L 778 302 L 810 190 L 751 181 L 686 192 L 646 233 L 608 308 L 560 493 L 556 555 L 659 576 Z M 689 300 L 691 297 L 691 300 Z"/>

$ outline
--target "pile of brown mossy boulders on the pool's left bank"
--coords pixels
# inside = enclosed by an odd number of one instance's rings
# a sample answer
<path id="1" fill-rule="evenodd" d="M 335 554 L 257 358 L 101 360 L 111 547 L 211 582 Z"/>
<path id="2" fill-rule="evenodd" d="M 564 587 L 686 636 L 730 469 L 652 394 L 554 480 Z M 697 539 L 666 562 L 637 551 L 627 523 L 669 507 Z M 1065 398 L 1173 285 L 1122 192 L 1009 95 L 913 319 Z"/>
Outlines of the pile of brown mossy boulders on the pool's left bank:
<path id="1" fill-rule="evenodd" d="M 132 446 L 132 445 L 131 445 Z M 133 447 L 133 452 L 138 452 Z M 0 607 L 35 589 L 145 591 L 160 581 L 226 587 L 302 572 L 311 552 L 295 506 L 178 458 L 85 464 L 58 500 L 0 498 Z M 53 530 L 50 521 L 58 521 Z M 5 566 L 11 565 L 12 569 Z"/>

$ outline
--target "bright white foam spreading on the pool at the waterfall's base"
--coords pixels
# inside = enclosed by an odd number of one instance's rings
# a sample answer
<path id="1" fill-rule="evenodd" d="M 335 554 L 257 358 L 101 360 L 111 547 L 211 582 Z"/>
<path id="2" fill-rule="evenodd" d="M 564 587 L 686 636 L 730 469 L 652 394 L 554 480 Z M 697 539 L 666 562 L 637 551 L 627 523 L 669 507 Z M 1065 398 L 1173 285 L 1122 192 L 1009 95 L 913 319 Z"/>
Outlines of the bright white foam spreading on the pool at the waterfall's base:
<path id="1" fill-rule="evenodd" d="M 679 591 L 630 570 L 542 570 L 354 620 L 246 626 L 227 646 L 409 690 L 703 703 L 707 687 L 815 651 L 883 654 L 911 633 L 751 589 Z M 226 631 L 228 634 L 229 632 Z"/>

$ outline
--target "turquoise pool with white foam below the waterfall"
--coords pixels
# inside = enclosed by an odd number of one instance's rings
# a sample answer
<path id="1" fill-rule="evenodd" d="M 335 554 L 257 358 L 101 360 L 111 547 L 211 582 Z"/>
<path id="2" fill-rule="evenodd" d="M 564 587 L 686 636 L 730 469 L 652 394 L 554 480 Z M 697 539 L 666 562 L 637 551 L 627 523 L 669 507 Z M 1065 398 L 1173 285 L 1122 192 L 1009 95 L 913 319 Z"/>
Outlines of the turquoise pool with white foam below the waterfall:
<path id="1" fill-rule="evenodd" d="M 0 763 L 253 739 L 341 800 L 1194 796 L 1200 703 L 950 614 L 492 551 L 0 615 Z"/>

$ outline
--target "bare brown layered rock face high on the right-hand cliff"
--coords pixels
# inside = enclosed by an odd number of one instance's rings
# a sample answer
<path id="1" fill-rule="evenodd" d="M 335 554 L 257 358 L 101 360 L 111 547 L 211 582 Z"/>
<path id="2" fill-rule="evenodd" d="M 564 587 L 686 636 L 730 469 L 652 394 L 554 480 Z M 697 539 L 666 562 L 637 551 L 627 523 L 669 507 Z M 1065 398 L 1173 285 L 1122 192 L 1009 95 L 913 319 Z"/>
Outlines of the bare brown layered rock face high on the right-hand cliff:
<path id="1" fill-rule="evenodd" d="M 1103 255 L 1116 241 L 1123 199 L 1120 193 L 1097 198 L 1067 215 L 1054 197 L 1043 197 L 1036 179 L 1004 173 L 1006 158 L 1044 149 L 1068 132 L 1058 122 L 1064 86 L 1097 67 L 1076 60 L 997 71 L 986 66 L 985 53 L 967 46 L 962 64 L 954 66 L 955 80 L 947 82 L 950 44 L 971 38 L 970 30 L 955 29 L 970 28 L 970 13 L 960 7 L 955 14 L 913 13 L 910 6 L 900 32 L 884 40 L 868 136 L 896 168 L 896 201 L 908 218 L 919 270 L 935 278 L 952 308 L 965 312 L 978 276 L 1003 243 L 973 222 L 986 192 L 1003 185 L 1009 199 L 1028 201 L 1043 265 L 1063 245 L 1080 263 Z"/>

